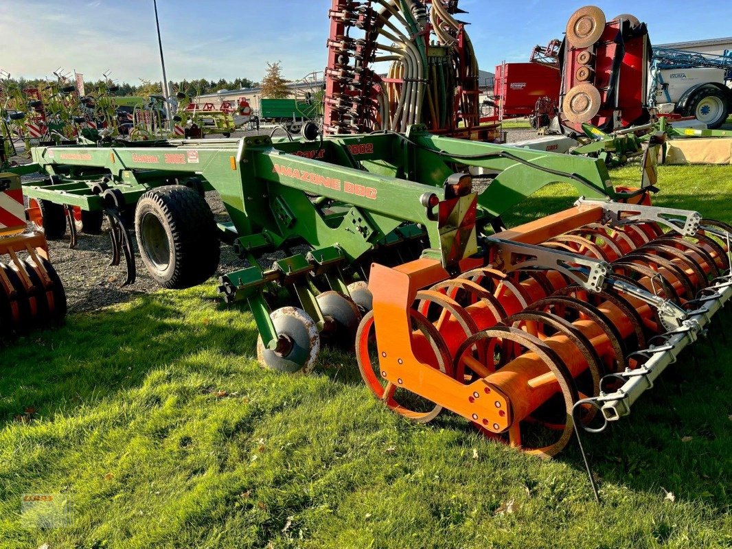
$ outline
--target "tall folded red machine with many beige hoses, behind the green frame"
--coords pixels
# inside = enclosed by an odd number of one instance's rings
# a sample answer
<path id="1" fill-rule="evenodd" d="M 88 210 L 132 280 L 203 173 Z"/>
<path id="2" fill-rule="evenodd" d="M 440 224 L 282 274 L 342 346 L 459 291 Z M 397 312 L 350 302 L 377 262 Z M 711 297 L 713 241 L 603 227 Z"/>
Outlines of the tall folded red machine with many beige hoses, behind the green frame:
<path id="1" fill-rule="evenodd" d="M 430 132 L 495 141 L 481 119 L 478 63 L 457 0 L 333 0 L 324 132 Z M 378 67 L 383 67 L 379 72 Z"/>

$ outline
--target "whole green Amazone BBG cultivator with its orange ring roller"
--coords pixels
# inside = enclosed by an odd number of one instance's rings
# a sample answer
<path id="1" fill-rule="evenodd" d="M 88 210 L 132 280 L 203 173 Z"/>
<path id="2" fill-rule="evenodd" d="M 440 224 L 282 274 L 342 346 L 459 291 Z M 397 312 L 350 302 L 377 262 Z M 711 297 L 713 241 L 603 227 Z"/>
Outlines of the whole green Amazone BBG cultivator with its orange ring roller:
<path id="1" fill-rule="evenodd" d="M 248 266 L 219 291 L 247 302 L 266 367 L 307 371 L 321 342 L 355 340 L 367 386 L 398 414 L 447 408 L 539 455 L 596 416 L 627 415 L 732 293 L 732 228 L 650 206 L 647 184 L 612 187 L 595 159 L 425 126 L 33 154 L 48 174 L 26 184 L 35 203 L 107 214 L 130 269 L 134 212 L 143 264 L 166 288 L 212 276 L 231 244 Z M 555 182 L 586 198 L 504 228 L 501 214 Z M 231 221 L 214 221 L 207 190 Z"/>

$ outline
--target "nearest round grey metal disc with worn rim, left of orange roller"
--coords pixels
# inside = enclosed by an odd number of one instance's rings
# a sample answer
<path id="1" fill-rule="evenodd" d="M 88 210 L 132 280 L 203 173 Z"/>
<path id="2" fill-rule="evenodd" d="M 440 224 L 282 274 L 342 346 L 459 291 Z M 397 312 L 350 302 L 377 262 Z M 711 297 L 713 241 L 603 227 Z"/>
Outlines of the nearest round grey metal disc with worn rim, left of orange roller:
<path id="1" fill-rule="evenodd" d="M 277 348 L 267 348 L 260 335 L 257 338 L 259 363 L 284 373 L 313 370 L 320 351 L 320 335 L 313 318 L 296 307 L 280 307 L 269 317 L 277 331 Z"/>

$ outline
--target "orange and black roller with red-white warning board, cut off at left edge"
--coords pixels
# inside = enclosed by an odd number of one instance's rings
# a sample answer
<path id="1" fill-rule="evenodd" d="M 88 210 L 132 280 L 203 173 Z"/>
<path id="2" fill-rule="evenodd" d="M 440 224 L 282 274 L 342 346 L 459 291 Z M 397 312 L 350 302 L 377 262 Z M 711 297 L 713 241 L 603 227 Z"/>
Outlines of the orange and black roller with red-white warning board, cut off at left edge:
<path id="1" fill-rule="evenodd" d="M 29 230 L 37 214 L 23 205 L 20 176 L 0 173 L 0 340 L 34 328 L 59 324 L 66 315 L 66 294 L 48 261 L 42 231 Z"/>

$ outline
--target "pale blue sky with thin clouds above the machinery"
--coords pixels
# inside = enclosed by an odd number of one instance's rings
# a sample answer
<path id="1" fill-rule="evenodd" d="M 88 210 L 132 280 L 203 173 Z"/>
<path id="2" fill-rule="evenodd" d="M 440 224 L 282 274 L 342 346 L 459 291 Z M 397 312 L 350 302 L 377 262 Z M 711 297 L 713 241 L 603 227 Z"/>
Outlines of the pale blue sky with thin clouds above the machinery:
<path id="1" fill-rule="evenodd" d="M 326 64 L 330 0 L 158 0 L 168 78 L 259 80 L 266 61 L 302 78 Z M 526 61 L 561 37 L 583 1 L 462 0 L 480 67 Z M 611 18 L 632 13 L 654 43 L 732 34 L 729 0 L 597 1 Z M 0 0 L 0 68 L 28 78 L 57 67 L 100 78 L 160 80 L 152 0 Z"/>

